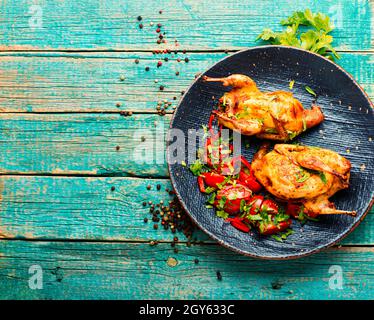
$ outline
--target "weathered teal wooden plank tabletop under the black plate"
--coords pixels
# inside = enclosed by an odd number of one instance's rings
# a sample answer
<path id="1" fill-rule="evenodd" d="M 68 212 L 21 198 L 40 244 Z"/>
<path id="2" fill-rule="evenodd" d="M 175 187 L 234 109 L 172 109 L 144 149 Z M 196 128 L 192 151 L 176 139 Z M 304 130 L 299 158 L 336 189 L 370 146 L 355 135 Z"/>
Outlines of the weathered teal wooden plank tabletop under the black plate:
<path id="1" fill-rule="evenodd" d="M 373 299 L 373 211 L 340 245 L 271 262 L 201 232 L 175 253 L 143 221 L 143 201 L 169 199 L 166 163 L 133 157 L 142 135 L 150 159 L 164 153 L 173 109 L 157 101 L 175 105 L 196 73 L 308 7 L 332 17 L 338 63 L 373 99 L 369 0 L 0 0 L 0 298 Z"/>

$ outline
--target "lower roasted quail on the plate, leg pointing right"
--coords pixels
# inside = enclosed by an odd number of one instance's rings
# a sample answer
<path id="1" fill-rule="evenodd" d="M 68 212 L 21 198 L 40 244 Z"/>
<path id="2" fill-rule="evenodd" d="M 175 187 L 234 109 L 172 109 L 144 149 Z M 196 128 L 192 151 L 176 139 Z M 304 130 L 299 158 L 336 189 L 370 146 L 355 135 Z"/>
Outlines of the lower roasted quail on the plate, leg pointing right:
<path id="1" fill-rule="evenodd" d="M 348 214 L 337 210 L 329 198 L 348 188 L 350 162 L 334 151 L 292 144 L 264 144 L 254 156 L 255 177 L 280 200 L 299 202 L 308 215 Z"/>

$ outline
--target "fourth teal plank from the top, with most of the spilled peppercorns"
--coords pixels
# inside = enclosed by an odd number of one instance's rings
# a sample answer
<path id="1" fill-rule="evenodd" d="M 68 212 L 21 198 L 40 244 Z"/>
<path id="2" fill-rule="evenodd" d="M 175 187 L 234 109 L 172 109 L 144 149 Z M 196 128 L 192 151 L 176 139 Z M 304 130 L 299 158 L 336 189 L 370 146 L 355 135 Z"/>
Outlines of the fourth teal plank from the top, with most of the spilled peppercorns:
<path id="1" fill-rule="evenodd" d="M 170 231 L 155 231 L 151 219 L 143 221 L 152 217 L 143 201 L 167 203 L 166 188 L 171 188 L 167 179 L 2 176 L 0 238 L 170 241 Z M 208 240 L 201 232 L 195 237 Z M 373 243 L 374 212 L 343 241 Z"/>

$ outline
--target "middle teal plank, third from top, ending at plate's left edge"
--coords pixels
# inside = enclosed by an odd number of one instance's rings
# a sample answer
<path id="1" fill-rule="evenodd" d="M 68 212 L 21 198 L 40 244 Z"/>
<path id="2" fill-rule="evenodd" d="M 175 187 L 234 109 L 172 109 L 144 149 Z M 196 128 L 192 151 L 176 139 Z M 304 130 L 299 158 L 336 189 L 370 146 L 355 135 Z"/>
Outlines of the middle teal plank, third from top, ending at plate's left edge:
<path id="1" fill-rule="evenodd" d="M 0 173 L 166 177 L 169 121 L 156 114 L 3 113 Z"/>

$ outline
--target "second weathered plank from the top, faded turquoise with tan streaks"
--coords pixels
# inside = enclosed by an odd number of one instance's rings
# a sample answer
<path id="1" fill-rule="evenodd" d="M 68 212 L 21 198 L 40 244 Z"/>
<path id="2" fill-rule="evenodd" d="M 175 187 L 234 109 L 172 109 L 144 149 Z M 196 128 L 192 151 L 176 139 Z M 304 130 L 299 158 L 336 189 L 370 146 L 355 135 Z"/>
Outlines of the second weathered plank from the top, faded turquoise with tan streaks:
<path id="1" fill-rule="evenodd" d="M 169 61 L 163 61 L 162 67 L 157 68 L 159 59 L 166 56 Z M 0 112 L 154 112 L 159 100 L 167 99 L 175 105 L 181 91 L 186 90 L 197 73 L 225 56 L 224 53 L 2 53 Z M 188 63 L 184 57 L 189 58 Z M 374 54 L 344 53 L 338 63 L 374 97 L 371 68 Z M 148 72 L 146 66 L 150 67 Z M 120 80 L 121 75 L 125 76 L 124 81 Z M 159 90 L 160 85 L 165 87 L 163 91 Z"/>

